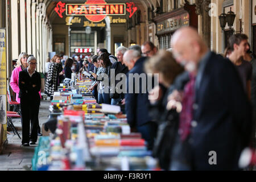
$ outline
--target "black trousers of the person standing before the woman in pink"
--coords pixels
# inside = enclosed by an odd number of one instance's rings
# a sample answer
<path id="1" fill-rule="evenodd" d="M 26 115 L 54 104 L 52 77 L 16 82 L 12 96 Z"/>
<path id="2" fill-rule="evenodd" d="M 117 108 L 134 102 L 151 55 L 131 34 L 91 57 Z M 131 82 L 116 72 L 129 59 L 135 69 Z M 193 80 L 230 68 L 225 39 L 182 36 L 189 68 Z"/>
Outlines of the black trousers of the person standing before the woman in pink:
<path id="1" fill-rule="evenodd" d="M 36 142 L 38 140 L 38 114 L 40 98 L 20 98 L 22 113 L 22 144 Z M 30 135 L 31 122 L 31 135 Z"/>

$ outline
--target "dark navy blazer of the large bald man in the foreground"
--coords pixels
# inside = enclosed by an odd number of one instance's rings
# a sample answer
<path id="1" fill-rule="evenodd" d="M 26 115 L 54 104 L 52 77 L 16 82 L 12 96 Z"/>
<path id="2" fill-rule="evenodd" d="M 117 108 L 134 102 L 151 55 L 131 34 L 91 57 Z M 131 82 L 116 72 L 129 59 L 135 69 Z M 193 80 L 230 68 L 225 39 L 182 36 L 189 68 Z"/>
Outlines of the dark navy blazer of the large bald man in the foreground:
<path id="1" fill-rule="evenodd" d="M 241 151 L 249 145 L 251 107 L 231 61 L 209 52 L 195 83 L 195 104 L 189 143 L 192 169 L 238 170 Z M 200 72 L 200 71 L 199 71 Z M 209 159 L 216 152 L 217 165 Z"/>

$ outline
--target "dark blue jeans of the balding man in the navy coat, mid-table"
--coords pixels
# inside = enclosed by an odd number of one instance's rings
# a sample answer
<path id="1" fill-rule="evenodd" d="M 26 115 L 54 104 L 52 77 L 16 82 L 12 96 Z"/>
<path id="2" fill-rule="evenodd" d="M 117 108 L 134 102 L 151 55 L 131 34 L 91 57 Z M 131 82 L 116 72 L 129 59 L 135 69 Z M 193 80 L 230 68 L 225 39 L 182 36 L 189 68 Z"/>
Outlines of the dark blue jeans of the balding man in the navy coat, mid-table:
<path id="1" fill-rule="evenodd" d="M 154 147 L 154 140 L 156 137 L 156 124 L 154 122 L 147 122 L 142 126 L 137 126 L 138 133 L 141 133 L 142 138 L 146 140 L 148 150 L 152 150 Z"/>

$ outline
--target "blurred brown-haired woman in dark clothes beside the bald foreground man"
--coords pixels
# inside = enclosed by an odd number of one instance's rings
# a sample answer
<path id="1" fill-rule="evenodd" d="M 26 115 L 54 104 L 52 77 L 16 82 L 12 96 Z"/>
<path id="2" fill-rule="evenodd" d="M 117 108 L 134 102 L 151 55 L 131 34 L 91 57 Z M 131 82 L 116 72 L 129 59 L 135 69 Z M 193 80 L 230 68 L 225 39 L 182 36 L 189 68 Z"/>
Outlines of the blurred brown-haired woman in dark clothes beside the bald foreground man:
<path id="1" fill-rule="evenodd" d="M 167 110 L 168 95 L 170 90 L 173 90 L 175 78 L 183 73 L 184 69 L 168 51 L 159 51 L 144 64 L 144 67 L 147 73 L 159 74 L 159 86 L 155 86 L 149 92 L 149 114 L 152 121 L 158 124 L 153 156 L 158 158 L 162 169 L 168 170 L 179 127 L 179 114 L 176 110 Z"/>

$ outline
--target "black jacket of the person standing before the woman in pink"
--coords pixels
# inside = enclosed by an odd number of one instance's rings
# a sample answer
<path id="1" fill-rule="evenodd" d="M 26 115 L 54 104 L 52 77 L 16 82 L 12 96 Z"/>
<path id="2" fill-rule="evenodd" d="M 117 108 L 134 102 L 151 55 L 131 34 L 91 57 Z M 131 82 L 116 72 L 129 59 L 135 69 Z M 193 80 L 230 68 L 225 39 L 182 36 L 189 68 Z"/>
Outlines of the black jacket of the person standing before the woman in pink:
<path id="1" fill-rule="evenodd" d="M 24 82 L 24 84 L 22 83 Z M 33 87 L 32 85 L 36 85 Z M 41 89 L 41 76 L 38 72 L 30 77 L 27 69 L 19 72 L 19 98 L 28 98 L 31 100 L 40 101 L 39 91 Z M 38 99 L 38 100 L 37 100 Z"/>

